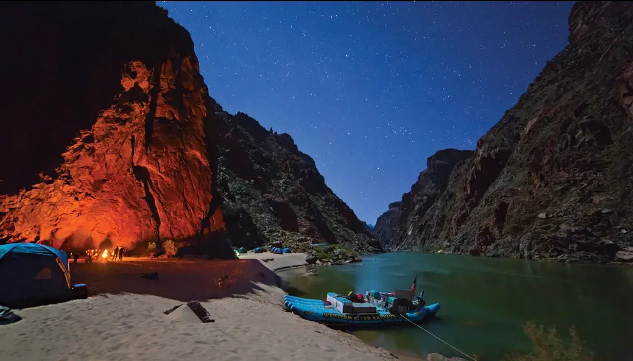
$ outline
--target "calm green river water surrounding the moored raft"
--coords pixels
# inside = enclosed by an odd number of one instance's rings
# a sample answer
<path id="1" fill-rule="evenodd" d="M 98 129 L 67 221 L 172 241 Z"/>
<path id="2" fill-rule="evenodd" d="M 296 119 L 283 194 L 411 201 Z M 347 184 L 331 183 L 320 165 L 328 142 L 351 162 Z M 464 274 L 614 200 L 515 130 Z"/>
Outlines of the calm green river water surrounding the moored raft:
<path id="1" fill-rule="evenodd" d="M 633 267 L 556 264 L 517 259 L 390 252 L 362 263 L 280 272 L 292 295 L 324 299 L 327 292 L 409 289 L 427 304 L 440 302 L 435 319 L 422 326 L 480 361 L 527 352 L 522 325 L 556 324 L 561 336 L 575 326 L 596 360 L 633 360 Z M 429 352 L 461 356 L 416 327 L 354 332 L 376 346 L 425 357 Z"/>

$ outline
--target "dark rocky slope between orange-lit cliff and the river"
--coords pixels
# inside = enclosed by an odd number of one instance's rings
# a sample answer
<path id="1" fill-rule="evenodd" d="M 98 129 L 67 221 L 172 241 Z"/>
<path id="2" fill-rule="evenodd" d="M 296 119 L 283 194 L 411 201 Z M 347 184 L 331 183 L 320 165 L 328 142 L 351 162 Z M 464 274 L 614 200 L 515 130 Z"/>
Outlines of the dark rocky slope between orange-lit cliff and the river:
<path id="1" fill-rule="evenodd" d="M 313 159 L 287 133 L 265 130 L 216 104 L 218 190 L 234 245 L 283 242 L 295 249 L 341 243 L 360 254 L 382 249 L 354 212 L 325 185 Z"/>

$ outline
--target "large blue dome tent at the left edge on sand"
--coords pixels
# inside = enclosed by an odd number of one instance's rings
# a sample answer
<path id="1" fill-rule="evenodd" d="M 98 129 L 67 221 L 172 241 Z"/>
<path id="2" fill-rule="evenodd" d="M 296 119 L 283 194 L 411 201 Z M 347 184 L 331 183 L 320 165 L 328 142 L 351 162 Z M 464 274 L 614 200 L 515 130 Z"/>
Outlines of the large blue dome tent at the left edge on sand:
<path id="1" fill-rule="evenodd" d="M 68 255 L 39 243 L 0 245 L 0 305 L 13 309 L 87 297 L 72 285 Z"/>

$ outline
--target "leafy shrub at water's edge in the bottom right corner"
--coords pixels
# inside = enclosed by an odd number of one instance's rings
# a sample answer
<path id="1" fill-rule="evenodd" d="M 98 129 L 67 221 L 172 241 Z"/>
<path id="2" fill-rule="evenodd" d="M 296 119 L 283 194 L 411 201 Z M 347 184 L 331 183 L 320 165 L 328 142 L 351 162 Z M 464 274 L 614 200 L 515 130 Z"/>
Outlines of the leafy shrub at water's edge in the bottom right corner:
<path id="1" fill-rule="evenodd" d="M 545 330 L 542 325 L 537 326 L 534 321 L 528 321 L 523 326 L 525 335 L 532 341 L 532 352 L 525 355 L 513 353 L 507 355 L 504 361 L 593 361 L 594 358 L 580 341 L 575 327 L 570 327 L 569 345 L 558 336 L 556 326 Z"/>

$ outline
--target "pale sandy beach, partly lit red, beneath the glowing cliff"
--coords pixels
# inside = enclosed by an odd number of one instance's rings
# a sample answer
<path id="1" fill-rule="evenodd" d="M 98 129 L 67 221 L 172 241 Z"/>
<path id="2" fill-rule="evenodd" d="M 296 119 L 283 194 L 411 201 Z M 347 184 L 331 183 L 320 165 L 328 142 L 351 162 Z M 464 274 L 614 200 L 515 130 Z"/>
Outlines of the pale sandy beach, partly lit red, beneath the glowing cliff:
<path id="1" fill-rule="evenodd" d="M 303 259 L 71 264 L 73 283 L 88 283 L 90 297 L 16 310 L 23 319 L 0 326 L 0 354 L 5 360 L 395 360 L 351 334 L 284 311 L 272 270 L 301 266 Z M 159 279 L 141 278 L 147 272 Z M 199 300 L 215 322 L 200 322 L 186 306 L 163 314 L 190 300 Z"/>

